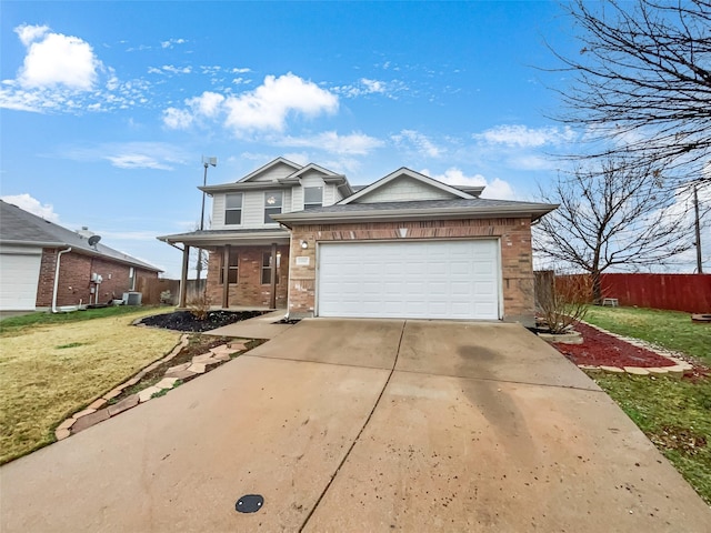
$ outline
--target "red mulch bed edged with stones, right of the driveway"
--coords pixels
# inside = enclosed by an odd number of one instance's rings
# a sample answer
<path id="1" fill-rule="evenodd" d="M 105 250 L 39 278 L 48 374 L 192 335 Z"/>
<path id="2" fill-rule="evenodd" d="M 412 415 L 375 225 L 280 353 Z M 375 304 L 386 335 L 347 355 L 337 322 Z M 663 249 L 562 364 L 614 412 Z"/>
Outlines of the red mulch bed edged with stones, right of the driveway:
<path id="1" fill-rule="evenodd" d="M 575 364 L 592 366 L 671 366 L 673 361 L 609 335 L 587 324 L 575 325 L 582 334 L 582 344 L 553 344 L 559 352 Z"/>

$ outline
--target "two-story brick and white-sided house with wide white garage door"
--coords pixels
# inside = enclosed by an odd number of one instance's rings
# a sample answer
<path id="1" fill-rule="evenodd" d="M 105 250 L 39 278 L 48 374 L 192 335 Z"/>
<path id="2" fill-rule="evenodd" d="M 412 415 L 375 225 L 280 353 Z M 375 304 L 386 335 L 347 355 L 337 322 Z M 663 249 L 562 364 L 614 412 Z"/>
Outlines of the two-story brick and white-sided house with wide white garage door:
<path id="1" fill-rule="evenodd" d="M 482 199 L 405 168 L 356 192 L 281 158 L 201 189 L 212 228 L 159 239 L 183 243 L 183 279 L 189 248 L 210 250 L 208 291 L 223 308 L 533 323 L 531 224 L 557 205 Z"/>

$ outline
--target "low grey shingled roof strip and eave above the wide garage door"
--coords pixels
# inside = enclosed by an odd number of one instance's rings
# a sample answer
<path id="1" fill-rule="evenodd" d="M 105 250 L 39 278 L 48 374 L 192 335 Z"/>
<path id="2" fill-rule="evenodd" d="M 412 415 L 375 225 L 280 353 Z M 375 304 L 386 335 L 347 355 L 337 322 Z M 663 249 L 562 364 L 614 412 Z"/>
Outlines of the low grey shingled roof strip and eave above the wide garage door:
<path id="1" fill-rule="evenodd" d="M 383 222 L 393 220 L 483 219 L 530 217 L 533 221 L 558 205 L 483 198 L 422 200 L 409 202 L 350 203 L 309 208 L 292 213 L 274 214 L 278 222 L 291 227 L 311 222 Z"/>

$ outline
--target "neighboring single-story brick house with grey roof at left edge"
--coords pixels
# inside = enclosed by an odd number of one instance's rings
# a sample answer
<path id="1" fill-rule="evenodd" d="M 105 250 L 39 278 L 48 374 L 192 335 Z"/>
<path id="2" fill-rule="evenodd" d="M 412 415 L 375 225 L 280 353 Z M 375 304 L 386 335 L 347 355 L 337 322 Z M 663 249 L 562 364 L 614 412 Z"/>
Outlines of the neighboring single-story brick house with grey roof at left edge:
<path id="1" fill-rule="evenodd" d="M 98 240 L 0 201 L 0 310 L 108 303 L 161 272 Z"/>

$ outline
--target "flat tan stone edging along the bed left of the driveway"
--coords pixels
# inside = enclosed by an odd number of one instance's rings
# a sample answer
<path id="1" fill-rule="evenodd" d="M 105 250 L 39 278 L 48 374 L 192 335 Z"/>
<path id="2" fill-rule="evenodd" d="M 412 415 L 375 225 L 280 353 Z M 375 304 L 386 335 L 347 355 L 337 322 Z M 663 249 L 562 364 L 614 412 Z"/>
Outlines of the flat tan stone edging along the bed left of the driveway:
<path id="1" fill-rule="evenodd" d="M 63 439 L 67 439 L 68 436 L 73 435 L 74 433 L 79 433 L 87 428 L 91 428 L 99 422 L 108 420 L 111 416 L 116 416 L 123 411 L 128 411 L 139 403 L 148 402 L 157 392 L 172 389 L 178 380 L 190 379 L 194 378 L 196 375 L 203 374 L 208 366 L 221 364 L 229 361 L 231 359 L 231 353 L 247 350 L 244 343 L 241 342 L 231 342 L 228 344 L 221 344 L 217 348 L 212 348 L 207 353 L 193 356 L 191 362 L 169 368 L 166 371 L 166 375 L 163 376 L 163 379 L 156 383 L 153 386 L 143 389 L 137 394 L 131 394 L 130 396 L 124 398 L 119 403 L 107 406 L 110 400 L 121 395 L 121 393 L 123 393 L 123 391 L 129 386 L 133 386 L 134 384 L 137 384 L 147 373 L 156 370 L 161 364 L 174 359 L 183 348 L 188 346 L 188 342 L 189 334 L 182 334 L 180 338 L 180 342 L 176 345 L 176 348 L 172 349 L 172 351 L 168 355 L 149 364 L 130 380 L 121 383 L 119 386 L 116 386 L 111 391 L 107 392 L 103 396 L 93 401 L 83 411 L 79 411 L 78 413 L 71 415 L 69 419 L 64 420 L 54 430 L 54 436 L 57 438 L 57 440 L 61 441 Z"/>

